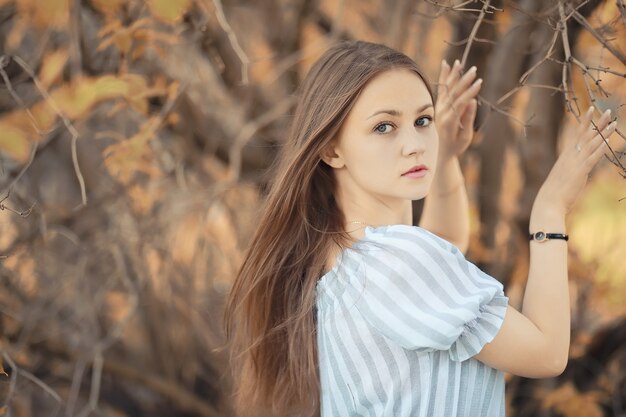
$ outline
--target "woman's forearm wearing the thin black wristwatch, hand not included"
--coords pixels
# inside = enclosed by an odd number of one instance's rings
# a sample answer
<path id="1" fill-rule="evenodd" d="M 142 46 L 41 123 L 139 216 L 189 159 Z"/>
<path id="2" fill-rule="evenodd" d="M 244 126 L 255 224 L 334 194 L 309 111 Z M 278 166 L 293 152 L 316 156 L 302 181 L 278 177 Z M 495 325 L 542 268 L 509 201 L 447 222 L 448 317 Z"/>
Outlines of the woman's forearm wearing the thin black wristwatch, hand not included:
<path id="1" fill-rule="evenodd" d="M 565 233 L 565 214 L 536 203 L 530 232 Z M 544 334 L 554 363 L 567 362 L 570 344 L 570 305 L 567 276 L 567 242 L 530 241 L 530 268 L 522 314 Z M 564 365 L 563 365 L 564 366 Z"/>

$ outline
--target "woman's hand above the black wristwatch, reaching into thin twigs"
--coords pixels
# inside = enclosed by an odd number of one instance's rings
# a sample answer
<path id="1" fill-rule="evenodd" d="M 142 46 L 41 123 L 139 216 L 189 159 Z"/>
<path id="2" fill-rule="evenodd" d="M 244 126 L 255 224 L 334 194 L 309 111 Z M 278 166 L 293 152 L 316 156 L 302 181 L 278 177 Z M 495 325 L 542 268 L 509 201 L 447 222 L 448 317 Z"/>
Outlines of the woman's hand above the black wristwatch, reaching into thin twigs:
<path id="1" fill-rule="evenodd" d="M 550 207 L 566 214 L 576 203 L 587 183 L 589 172 L 604 155 L 605 139 L 615 131 L 617 122 L 609 124 L 610 110 L 591 122 L 593 107 L 581 118 L 576 134 L 565 146 L 544 181 L 535 205 Z M 600 135 L 598 132 L 601 132 Z"/>

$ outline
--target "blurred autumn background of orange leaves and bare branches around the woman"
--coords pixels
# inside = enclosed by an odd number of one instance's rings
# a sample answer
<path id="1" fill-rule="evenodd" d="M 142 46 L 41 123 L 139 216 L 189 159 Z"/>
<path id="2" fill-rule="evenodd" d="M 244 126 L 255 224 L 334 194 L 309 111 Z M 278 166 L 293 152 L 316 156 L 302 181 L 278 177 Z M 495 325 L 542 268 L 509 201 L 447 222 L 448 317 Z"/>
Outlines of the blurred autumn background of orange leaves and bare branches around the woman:
<path id="1" fill-rule="evenodd" d="M 568 217 L 567 370 L 507 416 L 626 416 L 623 0 L 0 0 L 0 416 L 230 416 L 225 295 L 295 92 L 334 42 L 485 82 L 468 258 L 520 308 L 581 112 L 618 134 Z M 415 204 L 415 222 L 420 202 Z"/>

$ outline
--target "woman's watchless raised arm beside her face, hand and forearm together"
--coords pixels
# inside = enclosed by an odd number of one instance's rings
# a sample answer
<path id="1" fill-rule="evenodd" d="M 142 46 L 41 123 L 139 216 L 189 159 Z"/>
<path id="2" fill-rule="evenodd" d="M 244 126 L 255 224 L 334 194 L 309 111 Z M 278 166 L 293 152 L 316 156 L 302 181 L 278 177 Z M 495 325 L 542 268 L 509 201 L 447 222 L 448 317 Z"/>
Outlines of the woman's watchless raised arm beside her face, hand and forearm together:
<path id="1" fill-rule="evenodd" d="M 472 141 L 476 117 L 476 95 L 481 80 L 476 67 L 461 76 L 461 64 L 452 68 L 441 63 L 435 104 L 435 125 L 439 133 L 437 170 L 424 202 L 420 226 L 446 239 L 462 252 L 469 244 L 469 211 L 461 155 Z"/>

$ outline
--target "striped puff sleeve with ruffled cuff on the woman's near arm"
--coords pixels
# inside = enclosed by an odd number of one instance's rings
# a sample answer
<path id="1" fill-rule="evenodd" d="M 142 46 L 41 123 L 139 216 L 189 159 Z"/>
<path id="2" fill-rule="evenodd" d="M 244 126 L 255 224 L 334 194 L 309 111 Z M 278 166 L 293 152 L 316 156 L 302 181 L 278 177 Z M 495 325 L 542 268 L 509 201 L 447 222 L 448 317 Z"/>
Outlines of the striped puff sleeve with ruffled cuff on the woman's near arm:
<path id="1" fill-rule="evenodd" d="M 425 229 L 387 226 L 370 232 L 356 308 L 405 349 L 447 350 L 464 361 L 498 333 L 508 304 L 502 284 Z"/>

